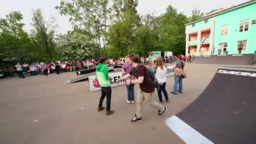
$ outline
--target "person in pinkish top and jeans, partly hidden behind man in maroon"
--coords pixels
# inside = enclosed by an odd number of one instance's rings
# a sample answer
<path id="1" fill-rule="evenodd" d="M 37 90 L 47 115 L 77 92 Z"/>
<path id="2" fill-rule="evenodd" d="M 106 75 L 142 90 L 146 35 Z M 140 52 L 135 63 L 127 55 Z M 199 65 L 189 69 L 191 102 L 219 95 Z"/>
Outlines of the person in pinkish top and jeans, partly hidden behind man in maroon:
<path id="1" fill-rule="evenodd" d="M 133 66 L 130 64 L 128 56 L 125 59 L 125 63 L 126 64 L 122 67 L 122 75 L 127 75 L 133 70 Z M 134 84 L 126 83 L 126 81 L 131 82 L 132 77 L 125 80 L 128 95 L 127 103 L 129 104 L 134 104 Z"/>

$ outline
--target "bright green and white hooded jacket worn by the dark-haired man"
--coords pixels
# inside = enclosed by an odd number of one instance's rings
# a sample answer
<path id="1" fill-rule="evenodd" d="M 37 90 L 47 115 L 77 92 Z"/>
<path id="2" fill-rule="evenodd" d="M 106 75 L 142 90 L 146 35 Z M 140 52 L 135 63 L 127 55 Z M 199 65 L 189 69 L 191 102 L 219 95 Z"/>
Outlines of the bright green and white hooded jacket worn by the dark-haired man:
<path id="1" fill-rule="evenodd" d="M 108 67 L 106 64 L 98 64 L 96 68 L 96 76 L 98 77 L 101 87 L 110 86 Z"/>

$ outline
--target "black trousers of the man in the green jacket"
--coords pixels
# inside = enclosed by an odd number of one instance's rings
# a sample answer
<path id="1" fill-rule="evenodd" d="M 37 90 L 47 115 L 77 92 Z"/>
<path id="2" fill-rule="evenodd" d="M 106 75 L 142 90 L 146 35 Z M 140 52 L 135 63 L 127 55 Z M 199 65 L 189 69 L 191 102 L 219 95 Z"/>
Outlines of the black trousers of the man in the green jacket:
<path id="1" fill-rule="evenodd" d="M 111 87 L 101 87 L 101 98 L 99 99 L 99 107 L 102 107 L 103 100 L 105 96 L 107 96 L 107 111 L 110 111 L 110 105 L 111 105 Z"/>

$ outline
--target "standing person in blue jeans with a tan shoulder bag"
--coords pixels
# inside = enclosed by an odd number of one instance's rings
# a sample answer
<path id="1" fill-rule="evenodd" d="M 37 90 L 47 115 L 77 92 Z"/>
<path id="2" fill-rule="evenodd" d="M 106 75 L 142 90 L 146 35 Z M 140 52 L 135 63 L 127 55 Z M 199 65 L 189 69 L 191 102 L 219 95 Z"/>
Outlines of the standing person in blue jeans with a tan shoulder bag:
<path id="1" fill-rule="evenodd" d="M 183 84 L 182 84 L 183 77 L 182 77 L 181 73 L 183 72 L 184 65 L 185 65 L 185 62 L 182 61 L 181 55 L 178 55 L 177 61 L 173 65 L 173 67 L 175 67 L 175 73 L 174 73 L 173 91 L 171 92 L 172 94 L 177 94 L 178 83 L 179 83 L 178 92 L 182 93 L 182 91 L 183 91 Z"/>

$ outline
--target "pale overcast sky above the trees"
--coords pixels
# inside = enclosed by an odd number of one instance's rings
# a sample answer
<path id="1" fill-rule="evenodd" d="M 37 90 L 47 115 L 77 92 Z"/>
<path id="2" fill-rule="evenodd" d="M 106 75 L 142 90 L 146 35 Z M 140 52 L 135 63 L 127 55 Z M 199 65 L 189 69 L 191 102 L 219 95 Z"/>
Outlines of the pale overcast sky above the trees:
<path id="1" fill-rule="evenodd" d="M 26 24 L 25 30 L 30 31 L 32 22 L 32 9 L 41 8 L 44 18 L 48 20 L 51 15 L 58 19 L 58 24 L 61 33 L 66 33 L 72 29 L 68 18 L 60 16 L 54 8 L 59 5 L 61 0 L 0 0 L 0 18 L 11 11 L 20 11 L 24 16 L 23 23 Z M 184 12 L 187 16 L 191 15 L 193 7 L 199 8 L 203 12 L 211 11 L 212 9 L 224 8 L 230 5 L 237 5 L 248 0 L 139 0 L 137 10 L 140 14 L 155 12 L 157 15 L 165 13 L 168 5 L 177 8 L 179 12 Z"/>

